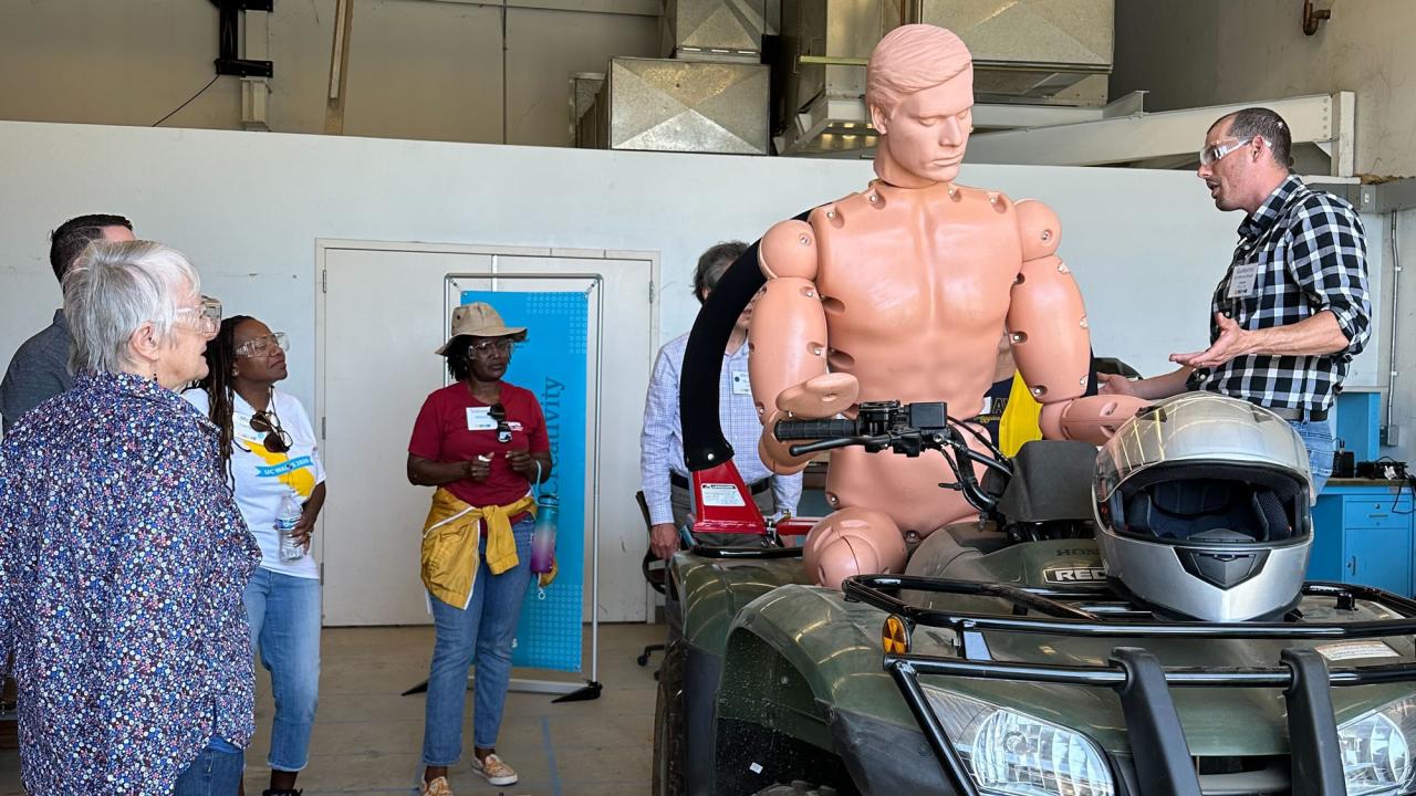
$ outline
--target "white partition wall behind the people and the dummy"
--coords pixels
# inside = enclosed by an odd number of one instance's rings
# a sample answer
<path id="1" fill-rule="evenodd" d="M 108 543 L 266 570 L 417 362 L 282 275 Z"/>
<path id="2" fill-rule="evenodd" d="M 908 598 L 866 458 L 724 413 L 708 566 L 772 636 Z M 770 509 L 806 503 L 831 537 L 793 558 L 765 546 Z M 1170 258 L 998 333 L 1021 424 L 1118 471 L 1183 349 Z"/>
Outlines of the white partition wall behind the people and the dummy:
<path id="1" fill-rule="evenodd" d="M 871 177 L 850 160 L 0 122 L 0 357 L 59 303 L 45 235 L 79 212 L 129 215 L 193 256 L 228 312 L 287 329 L 290 387 L 309 399 L 299 363 L 313 351 L 316 238 L 660 251 L 668 340 L 697 313 L 704 248 L 750 241 Z M 1215 212 L 1192 174 L 966 166 L 963 181 L 1058 210 L 1099 354 L 1160 373 L 1170 353 L 1204 346 L 1238 218 Z M 1385 220 L 1366 222 L 1379 273 Z M 1385 384 L 1379 367 L 1364 356 L 1352 384 Z"/>

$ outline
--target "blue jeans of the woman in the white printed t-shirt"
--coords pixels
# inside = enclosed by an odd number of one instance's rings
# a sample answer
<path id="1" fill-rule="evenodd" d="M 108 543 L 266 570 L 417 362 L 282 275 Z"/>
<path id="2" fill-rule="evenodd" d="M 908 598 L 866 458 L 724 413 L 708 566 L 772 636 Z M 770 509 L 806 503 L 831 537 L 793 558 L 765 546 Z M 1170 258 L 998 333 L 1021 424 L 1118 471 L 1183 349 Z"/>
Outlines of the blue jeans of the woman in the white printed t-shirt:
<path id="1" fill-rule="evenodd" d="M 320 700 L 320 582 L 256 569 L 246 585 L 251 646 L 270 673 L 275 721 L 268 765 L 300 771 Z"/>

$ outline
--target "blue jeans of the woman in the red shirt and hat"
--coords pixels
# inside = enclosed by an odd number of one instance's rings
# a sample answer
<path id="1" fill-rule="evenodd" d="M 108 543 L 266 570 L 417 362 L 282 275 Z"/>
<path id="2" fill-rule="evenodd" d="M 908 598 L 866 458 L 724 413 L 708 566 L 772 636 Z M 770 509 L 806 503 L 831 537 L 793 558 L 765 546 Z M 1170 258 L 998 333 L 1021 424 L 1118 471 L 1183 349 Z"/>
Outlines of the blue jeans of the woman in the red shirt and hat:
<path id="1" fill-rule="evenodd" d="M 462 714 L 467 703 L 467 667 L 476 657 L 473 683 L 473 742 L 490 748 L 501 729 L 501 708 L 511 678 L 511 642 L 517 636 L 521 602 L 531 584 L 531 534 L 527 517 L 511 527 L 520 564 L 500 575 L 487 569 L 487 540 L 479 547 L 477 579 L 467 610 L 430 598 L 433 612 L 432 671 L 428 676 L 428 714 L 423 725 L 423 765 L 449 766 L 462 758 Z"/>

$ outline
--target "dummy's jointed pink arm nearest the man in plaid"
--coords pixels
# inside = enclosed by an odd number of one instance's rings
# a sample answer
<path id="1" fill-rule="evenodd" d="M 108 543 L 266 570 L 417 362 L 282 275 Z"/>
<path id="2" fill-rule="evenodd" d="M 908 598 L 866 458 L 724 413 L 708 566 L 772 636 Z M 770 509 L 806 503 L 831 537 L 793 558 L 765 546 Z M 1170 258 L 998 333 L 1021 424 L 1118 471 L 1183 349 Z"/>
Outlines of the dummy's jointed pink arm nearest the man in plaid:
<path id="1" fill-rule="evenodd" d="M 1080 398 L 1092 367 L 1092 336 L 1082 290 L 1059 256 L 1062 225 L 1048 205 L 1017 205 L 1022 269 L 1012 285 L 1008 333 L 1018 373 L 1042 404 L 1039 425 L 1049 439 L 1104 442 L 1146 405 L 1134 397 Z"/>

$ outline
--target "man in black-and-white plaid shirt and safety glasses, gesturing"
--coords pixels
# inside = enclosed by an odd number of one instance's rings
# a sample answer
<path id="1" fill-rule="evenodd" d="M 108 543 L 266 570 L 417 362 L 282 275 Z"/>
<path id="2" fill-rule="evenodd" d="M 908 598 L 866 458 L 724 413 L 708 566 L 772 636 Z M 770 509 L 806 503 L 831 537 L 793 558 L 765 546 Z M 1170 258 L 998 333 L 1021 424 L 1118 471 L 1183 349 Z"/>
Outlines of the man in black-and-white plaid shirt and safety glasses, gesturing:
<path id="1" fill-rule="evenodd" d="M 1332 474 L 1332 402 L 1372 334 L 1366 234 L 1352 205 L 1289 169 L 1291 137 L 1266 108 L 1209 127 L 1199 178 L 1215 207 L 1243 210 L 1239 245 L 1211 302 L 1211 346 L 1171 354 L 1155 378 L 1100 375 L 1103 392 L 1167 398 L 1209 390 L 1273 409 L 1308 446 L 1313 483 Z"/>

